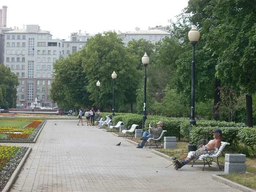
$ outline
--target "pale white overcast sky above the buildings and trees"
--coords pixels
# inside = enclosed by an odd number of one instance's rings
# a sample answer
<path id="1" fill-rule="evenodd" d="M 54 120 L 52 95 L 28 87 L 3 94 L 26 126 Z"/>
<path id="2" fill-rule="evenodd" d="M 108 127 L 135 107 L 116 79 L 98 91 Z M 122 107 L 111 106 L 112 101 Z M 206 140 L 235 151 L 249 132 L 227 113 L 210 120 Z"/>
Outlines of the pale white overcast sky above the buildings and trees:
<path id="1" fill-rule="evenodd" d="M 169 25 L 188 0 L 1 0 L 6 5 L 7 26 L 39 25 L 53 38 L 67 38 L 79 30 L 90 34 L 116 30 L 147 30 Z"/>

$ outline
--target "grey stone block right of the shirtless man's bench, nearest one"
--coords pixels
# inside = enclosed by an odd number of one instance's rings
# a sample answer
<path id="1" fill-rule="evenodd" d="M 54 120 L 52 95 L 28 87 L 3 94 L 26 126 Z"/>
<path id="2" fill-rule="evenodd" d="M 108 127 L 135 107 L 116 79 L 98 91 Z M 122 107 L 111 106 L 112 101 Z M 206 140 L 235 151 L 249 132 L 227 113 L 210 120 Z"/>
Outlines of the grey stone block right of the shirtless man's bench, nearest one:
<path id="1" fill-rule="evenodd" d="M 245 173 L 245 161 L 244 154 L 225 154 L 224 173 Z"/>

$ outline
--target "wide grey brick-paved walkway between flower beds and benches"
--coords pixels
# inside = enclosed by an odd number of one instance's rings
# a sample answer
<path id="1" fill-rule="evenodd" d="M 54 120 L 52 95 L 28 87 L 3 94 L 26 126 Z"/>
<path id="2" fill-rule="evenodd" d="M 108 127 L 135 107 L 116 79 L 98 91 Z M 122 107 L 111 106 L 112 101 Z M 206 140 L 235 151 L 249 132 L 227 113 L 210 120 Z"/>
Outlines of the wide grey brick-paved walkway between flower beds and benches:
<path id="1" fill-rule="evenodd" d="M 47 120 L 35 144 L 13 144 L 33 149 L 11 192 L 239 191 L 211 179 L 217 168 L 165 168 L 170 161 L 150 149 L 77 121 Z"/>

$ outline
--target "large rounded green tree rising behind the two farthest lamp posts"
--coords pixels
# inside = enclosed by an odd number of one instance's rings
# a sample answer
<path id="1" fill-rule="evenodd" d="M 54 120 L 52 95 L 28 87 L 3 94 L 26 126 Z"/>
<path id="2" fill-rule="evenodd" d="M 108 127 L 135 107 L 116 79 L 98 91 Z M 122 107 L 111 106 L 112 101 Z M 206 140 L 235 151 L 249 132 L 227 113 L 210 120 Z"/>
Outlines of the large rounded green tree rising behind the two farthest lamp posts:
<path id="1" fill-rule="evenodd" d="M 138 88 L 139 75 L 136 58 L 127 54 L 122 40 L 113 31 L 97 34 L 87 41 L 83 52 L 83 71 L 88 79 L 86 90 L 90 94 L 89 99 L 97 102 L 96 82 L 101 82 L 99 91 L 99 106 L 112 109 L 113 71 L 117 74 L 115 83 L 116 111 L 124 105 L 130 105 L 136 101 L 136 89 Z"/>

